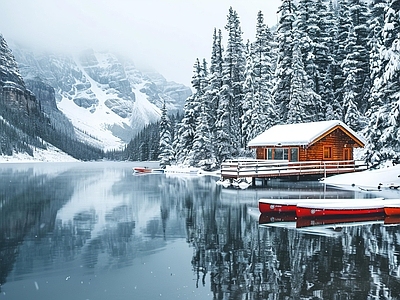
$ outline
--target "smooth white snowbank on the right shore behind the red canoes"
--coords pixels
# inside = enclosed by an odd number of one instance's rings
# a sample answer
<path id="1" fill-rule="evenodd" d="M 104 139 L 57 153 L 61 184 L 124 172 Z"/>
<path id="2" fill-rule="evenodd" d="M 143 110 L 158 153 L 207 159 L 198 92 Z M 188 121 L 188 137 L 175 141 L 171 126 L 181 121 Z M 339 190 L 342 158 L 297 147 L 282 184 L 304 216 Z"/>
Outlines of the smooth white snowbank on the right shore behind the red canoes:
<path id="1" fill-rule="evenodd" d="M 328 185 L 359 188 L 398 188 L 400 165 L 384 166 L 381 169 L 334 175 L 323 179 Z"/>

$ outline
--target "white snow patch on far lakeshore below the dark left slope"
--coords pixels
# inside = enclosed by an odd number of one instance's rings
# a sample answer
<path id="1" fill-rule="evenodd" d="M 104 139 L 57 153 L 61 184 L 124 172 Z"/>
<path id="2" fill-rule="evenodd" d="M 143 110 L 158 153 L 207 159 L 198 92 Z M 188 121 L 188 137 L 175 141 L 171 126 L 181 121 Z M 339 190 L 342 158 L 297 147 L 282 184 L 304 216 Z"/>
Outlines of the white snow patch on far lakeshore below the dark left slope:
<path id="1" fill-rule="evenodd" d="M 78 160 L 65 152 L 47 145 L 47 150 L 35 149 L 33 156 L 26 153 L 14 153 L 12 156 L 0 155 L 0 163 L 29 163 L 29 162 L 77 162 Z"/>

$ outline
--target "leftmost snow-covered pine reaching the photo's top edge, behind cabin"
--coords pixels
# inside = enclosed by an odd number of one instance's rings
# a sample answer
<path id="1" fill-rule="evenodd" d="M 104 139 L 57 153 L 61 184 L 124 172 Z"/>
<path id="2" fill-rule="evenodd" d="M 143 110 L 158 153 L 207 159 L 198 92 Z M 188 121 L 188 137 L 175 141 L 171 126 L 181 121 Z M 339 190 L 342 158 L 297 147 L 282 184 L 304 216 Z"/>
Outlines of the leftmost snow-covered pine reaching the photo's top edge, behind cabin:
<path id="1" fill-rule="evenodd" d="M 280 122 L 286 123 L 290 101 L 290 90 L 293 76 L 293 41 L 296 7 L 293 0 L 282 0 L 277 28 L 278 58 L 276 66 L 276 89 L 274 99 L 277 104 Z"/>

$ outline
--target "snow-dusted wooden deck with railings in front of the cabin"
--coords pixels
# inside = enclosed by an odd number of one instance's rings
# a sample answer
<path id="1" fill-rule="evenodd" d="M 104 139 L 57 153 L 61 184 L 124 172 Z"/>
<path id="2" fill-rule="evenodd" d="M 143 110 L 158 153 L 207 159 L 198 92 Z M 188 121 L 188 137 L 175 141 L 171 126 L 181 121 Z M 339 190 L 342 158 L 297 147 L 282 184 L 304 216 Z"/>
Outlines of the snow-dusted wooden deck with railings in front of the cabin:
<path id="1" fill-rule="evenodd" d="M 286 160 L 229 160 L 221 164 L 221 179 L 252 178 L 296 178 L 321 175 L 327 177 L 364 171 L 367 166 L 361 161 L 304 161 L 289 162 Z"/>

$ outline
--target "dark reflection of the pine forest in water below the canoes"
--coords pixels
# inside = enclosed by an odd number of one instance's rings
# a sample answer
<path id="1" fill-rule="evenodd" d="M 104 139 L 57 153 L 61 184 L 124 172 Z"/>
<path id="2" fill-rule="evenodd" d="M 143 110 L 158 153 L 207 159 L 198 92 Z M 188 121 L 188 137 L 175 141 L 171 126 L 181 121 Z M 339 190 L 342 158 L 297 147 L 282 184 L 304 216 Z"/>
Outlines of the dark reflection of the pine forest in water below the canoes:
<path id="1" fill-rule="evenodd" d="M 245 204 L 192 202 L 187 230 L 196 286 L 209 277 L 215 299 L 400 299 L 400 226 L 318 236 L 259 227 Z"/>

